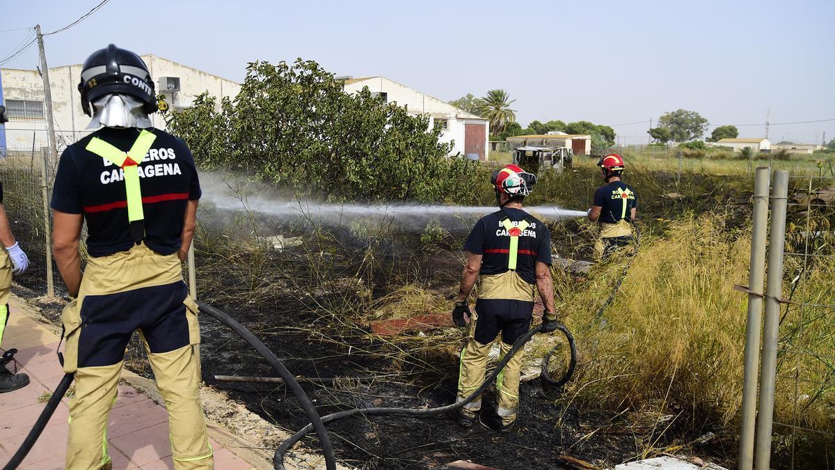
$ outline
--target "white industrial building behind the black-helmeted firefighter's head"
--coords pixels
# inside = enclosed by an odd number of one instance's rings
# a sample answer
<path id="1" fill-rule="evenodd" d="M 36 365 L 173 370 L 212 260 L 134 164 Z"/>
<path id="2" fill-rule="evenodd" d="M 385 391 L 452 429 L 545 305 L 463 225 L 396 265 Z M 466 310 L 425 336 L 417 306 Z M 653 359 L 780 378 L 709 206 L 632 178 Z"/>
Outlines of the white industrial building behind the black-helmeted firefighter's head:
<path id="1" fill-rule="evenodd" d="M 235 97 L 240 84 L 154 54 L 141 56 L 156 80 L 156 93 L 165 95 L 172 109 L 190 106 L 196 95 L 208 91 L 220 99 Z M 49 68 L 53 116 L 58 148 L 89 134 L 90 118 L 81 110 L 81 64 Z M 32 151 L 48 146 L 43 79 L 38 70 L 0 69 L 0 102 L 6 106 L 8 123 L 0 125 L 0 155 L 5 151 Z M 154 113 L 154 127 L 165 129 L 162 115 Z"/>

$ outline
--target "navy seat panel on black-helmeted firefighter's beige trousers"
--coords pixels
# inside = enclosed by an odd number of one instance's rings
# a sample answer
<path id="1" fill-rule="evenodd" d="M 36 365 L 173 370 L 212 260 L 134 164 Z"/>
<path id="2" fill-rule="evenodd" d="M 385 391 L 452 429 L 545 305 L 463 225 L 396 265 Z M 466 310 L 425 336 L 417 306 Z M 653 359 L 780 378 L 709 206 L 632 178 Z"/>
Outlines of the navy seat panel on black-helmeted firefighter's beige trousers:
<path id="1" fill-rule="evenodd" d="M 88 295 L 81 305 L 78 367 L 114 365 L 134 330 L 142 330 L 152 353 L 189 345 L 189 323 L 183 301 L 185 283 Z"/>

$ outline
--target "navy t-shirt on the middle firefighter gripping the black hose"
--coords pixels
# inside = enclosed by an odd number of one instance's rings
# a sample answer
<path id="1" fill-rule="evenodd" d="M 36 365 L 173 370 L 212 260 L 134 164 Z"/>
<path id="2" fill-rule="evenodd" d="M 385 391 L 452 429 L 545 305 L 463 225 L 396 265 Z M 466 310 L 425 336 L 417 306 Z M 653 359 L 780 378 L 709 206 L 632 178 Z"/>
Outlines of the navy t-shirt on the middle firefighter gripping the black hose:
<path id="1" fill-rule="evenodd" d="M 536 284 L 536 262 L 551 264 L 551 232 L 543 222 L 521 209 L 506 207 L 504 212 L 507 216 L 497 211 L 478 219 L 464 243 L 464 249 L 483 255 L 480 273 L 505 273 L 508 271 L 510 235 L 501 221 L 509 217 L 515 226 L 519 221 L 527 220 L 530 225 L 519 236 L 516 272 L 528 284 Z"/>

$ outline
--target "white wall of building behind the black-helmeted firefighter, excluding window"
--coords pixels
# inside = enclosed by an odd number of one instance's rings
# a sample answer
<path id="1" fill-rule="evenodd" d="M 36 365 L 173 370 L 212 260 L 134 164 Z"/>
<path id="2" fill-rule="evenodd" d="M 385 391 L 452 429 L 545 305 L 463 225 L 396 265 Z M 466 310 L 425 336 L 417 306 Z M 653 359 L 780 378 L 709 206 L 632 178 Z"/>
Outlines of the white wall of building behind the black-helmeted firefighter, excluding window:
<path id="1" fill-rule="evenodd" d="M 159 77 L 180 77 L 182 91 L 175 96 L 172 106 L 188 106 L 196 95 L 208 90 L 210 95 L 234 97 L 240 91 L 240 84 L 207 74 L 198 69 L 162 59 L 153 54 L 142 56 L 148 65 L 154 86 L 158 86 Z M 0 69 L 3 80 L 4 100 L 43 101 L 43 79 L 37 70 Z M 49 84 L 52 91 L 55 132 L 58 135 L 58 147 L 72 144 L 92 130 L 86 130 L 90 118 L 81 110 L 81 95 L 78 83 L 81 81 L 81 65 L 68 65 L 49 69 Z M 159 92 L 159 90 L 157 90 Z M 170 94 L 168 94 L 170 96 Z M 46 107 L 44 105 L 44 117 Z M 152 115 L 154 126 L 165 128 L 162 115 Z M 10 151 L 32 150 L 33 130 L 35 146 L 47 146 L 46 120 L 9 120 L 6 127 L 6 146 Z"/>

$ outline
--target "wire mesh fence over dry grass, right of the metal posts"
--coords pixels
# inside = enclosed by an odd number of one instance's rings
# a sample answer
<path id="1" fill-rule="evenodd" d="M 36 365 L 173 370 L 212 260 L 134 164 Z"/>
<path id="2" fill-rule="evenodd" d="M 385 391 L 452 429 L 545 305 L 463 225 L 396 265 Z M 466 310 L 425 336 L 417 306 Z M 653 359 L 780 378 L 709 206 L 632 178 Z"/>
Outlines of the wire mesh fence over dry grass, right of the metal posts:
<path id="1" fill-rule="evenodd" d="M 774 431 L 789 467 L 835 466 L 835 176 L 793 176 Z M 779 446 L 772 447 L 772 453 Z"/>

